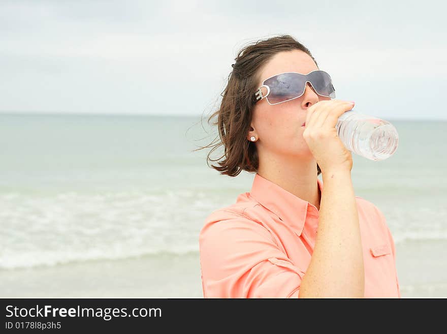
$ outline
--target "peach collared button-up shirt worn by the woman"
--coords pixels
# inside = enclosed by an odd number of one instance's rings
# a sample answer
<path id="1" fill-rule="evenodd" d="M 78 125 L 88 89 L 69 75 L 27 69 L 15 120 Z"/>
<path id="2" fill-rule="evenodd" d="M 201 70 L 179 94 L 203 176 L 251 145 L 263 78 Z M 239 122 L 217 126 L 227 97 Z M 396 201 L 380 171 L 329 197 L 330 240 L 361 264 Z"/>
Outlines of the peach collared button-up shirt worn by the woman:
<path id="1" fill-rule="evenodd" d="M 320 190 L 323 183 L 317 178 Z M 384 215 L 356 196 L 366 298 L 400 298 L 394 240 Z M 297 298 L 315 245 L 318 210 L 254 175 L 250 192 L 210 214 L 199 235 L 205 298 Z"/>

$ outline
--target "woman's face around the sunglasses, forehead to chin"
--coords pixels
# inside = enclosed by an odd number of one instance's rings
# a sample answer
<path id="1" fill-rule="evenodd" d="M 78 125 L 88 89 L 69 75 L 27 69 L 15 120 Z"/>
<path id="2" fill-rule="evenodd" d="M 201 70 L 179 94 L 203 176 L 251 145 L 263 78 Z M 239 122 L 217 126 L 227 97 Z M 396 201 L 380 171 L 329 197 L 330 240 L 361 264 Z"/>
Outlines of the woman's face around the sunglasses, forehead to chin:
<path id="1" fill-rule="evenodd" d="M 279 52 L 262 69 L 258 87 L 265 79 L 279 73 L 307 74 L 314 70 L 318 70 L 318 67 L 307 53 L 300 50 Z M 263 94 L 266 94 L 265 88 L 262 89 Z M 303 138 L 305 127 L 302 124 L 306 120 L 307 109 L 323 100 L 331 100 L 331 98 L 316 94 L 307 82 L 304 94 L 297 99 L 273 106 L 268 104 L 266 99 L 258 101 L 254 105 L 247 140 L 255 136 L 257 149 L 262 150 L 263 154 L 311 156 Z"/>

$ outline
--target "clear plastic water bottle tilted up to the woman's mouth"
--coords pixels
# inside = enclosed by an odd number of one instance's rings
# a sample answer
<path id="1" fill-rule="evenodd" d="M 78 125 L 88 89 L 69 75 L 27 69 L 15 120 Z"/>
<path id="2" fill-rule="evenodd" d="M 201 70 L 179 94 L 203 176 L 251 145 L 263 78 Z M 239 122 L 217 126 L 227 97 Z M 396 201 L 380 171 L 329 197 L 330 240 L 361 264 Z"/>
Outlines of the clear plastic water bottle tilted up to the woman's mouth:
<path id="1" fill-rule="evenodd" d="M 335 128 L 348 150 L 374 161 L 391 157 L 399 143 L 399 135 L 391 123 L 354 110 L 343 113 Z"/>

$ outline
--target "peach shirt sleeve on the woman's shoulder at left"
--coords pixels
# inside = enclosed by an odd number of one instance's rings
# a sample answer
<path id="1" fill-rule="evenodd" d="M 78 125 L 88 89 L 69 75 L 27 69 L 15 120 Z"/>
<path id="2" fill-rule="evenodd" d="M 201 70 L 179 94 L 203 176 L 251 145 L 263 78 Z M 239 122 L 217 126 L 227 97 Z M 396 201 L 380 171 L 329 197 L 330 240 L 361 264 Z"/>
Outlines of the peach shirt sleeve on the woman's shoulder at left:
<path id="1" fill-rule="evenodd" d="M 304 272 L 248 218 L 207 222 L 199 235 L 205 298 L 297 298 Z"/>

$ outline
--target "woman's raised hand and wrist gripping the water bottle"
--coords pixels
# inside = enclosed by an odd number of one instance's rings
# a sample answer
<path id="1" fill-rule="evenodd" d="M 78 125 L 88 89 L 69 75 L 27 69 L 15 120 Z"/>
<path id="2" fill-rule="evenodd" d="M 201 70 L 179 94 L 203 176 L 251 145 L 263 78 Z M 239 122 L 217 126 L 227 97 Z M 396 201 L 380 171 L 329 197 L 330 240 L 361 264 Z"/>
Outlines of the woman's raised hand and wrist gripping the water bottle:
<path id="1" fill-rule="evenodd" d="M 353 157 L 338 137 L 338 117 L 354 108 L 354 103 L 341 100 L 319 101 L 307 109 L 303 138 L 315 161 L 325 173 L 353 168 Z"/>

